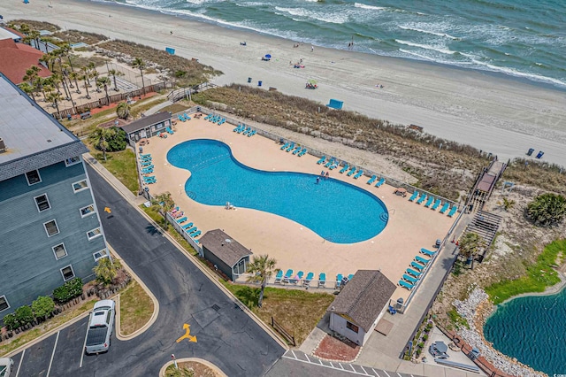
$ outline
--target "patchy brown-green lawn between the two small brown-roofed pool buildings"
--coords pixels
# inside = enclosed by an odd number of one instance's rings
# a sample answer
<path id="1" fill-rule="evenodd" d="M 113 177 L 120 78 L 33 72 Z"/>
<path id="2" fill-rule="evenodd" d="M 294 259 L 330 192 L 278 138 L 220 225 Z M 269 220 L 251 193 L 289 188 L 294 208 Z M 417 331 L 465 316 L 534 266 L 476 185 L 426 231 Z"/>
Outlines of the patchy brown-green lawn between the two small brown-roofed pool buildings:
<path id="1" fill-rule="evenodd" d="M 223 281 L 224 286 L 243 304 L 271 326 L 272 317 L 294 336 L 297 346 L 304 342 L 325 315 L 334 297 L 327 293 L 313 293 L 302 289 L 265 288 L 264 302 L 257 307 L 259 288 Z"/>

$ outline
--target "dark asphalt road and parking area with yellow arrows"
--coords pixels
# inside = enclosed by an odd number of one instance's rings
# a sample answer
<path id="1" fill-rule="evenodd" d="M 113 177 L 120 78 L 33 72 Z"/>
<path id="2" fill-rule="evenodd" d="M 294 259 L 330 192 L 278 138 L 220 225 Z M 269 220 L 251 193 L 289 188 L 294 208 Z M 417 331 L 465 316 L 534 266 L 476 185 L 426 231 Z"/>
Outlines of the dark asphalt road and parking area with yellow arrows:
<path id="1" fill-rule="evenodd" d="M 279 343 L 96 171 L 88 167 L 88 174 L 107 241 L 157 297 L 159 315 L 142 335 L 113 336 L 109 352 L 96 356 L 83 355 L 88 319 L 81 319 L 12 357 L 17 375 L 157 376 L 171 354 L 206 359 L 231 377 L 264 375 L 284 353 Z M 196 342 L 176 342 L 185 323 Z"/>

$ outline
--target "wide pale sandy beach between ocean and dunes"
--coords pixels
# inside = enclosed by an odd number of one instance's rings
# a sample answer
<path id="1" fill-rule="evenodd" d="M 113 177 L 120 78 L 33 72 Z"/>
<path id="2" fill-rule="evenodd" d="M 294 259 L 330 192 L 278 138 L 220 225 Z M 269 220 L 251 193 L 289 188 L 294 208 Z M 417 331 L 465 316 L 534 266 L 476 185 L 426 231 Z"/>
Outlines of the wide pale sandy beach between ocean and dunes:
<path id="1" fill-rule="evenodd" d="M 129 6 L 79 0 L 52 4 L 10 1 L 3 4 L 4 19 L 44 20 L 159 50 L 172 47 L 180 56 L 224 72 L 214 80 L 218 85 L 263 81 L 264 88 L 288 95 L 321 104 L 336 98 L 344 101 L 345 110 L 417 124 L 424 132 L 471 144 L 500 159 L 524 157 L 533 148 L 545 152 L 543 161 L 566 165 L 566 92 L 561 90 L 400 58 L 318 46 L 311 50 L 310 44 L 294 48 L 294 41 Z M 272 60 L 262 61 L 268 53 Z M 289 65 L 300 59 L 304 69 Z M 317 80 L 319 88 L 305 89 L 308 79 Z"/>

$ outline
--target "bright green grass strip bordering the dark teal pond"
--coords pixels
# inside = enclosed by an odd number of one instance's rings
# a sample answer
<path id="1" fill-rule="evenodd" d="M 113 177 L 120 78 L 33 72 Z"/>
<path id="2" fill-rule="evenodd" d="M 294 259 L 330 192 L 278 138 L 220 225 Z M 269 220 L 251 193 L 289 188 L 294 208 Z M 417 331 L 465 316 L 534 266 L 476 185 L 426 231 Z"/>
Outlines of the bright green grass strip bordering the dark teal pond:
<path id="1" fill-rule="evenodd" d="M 565 255 L 566 239 L 549 243 L 537 258 L 537 262 L 527 266 L 526 275 L 515 280 L 498 281 L 486 287 L 486 292 L 493 304 L 501 304 L 522 293 L 543 292 L 560 281 L 555 267 Z"/>

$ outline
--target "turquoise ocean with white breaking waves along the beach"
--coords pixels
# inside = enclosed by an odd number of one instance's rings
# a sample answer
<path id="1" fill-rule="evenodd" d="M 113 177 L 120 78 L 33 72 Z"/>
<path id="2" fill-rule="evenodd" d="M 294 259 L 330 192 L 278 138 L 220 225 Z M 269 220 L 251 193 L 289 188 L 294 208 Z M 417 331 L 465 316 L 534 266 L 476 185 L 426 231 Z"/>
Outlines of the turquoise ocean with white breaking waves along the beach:
<path id="1" fill-rule="evenodd" d="M 564 0 L 92 0 L 566 89 Z"/>

